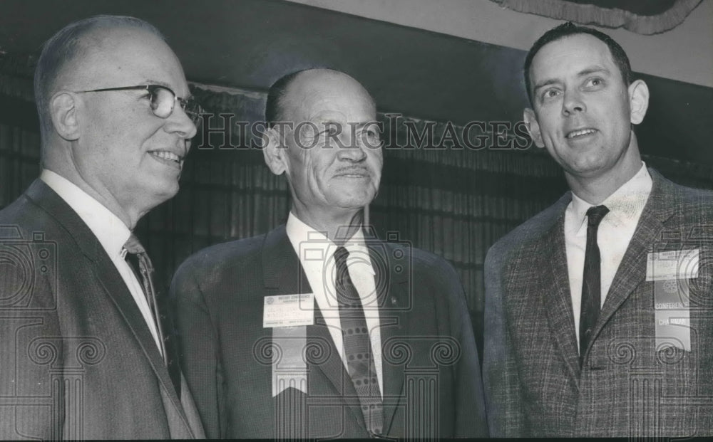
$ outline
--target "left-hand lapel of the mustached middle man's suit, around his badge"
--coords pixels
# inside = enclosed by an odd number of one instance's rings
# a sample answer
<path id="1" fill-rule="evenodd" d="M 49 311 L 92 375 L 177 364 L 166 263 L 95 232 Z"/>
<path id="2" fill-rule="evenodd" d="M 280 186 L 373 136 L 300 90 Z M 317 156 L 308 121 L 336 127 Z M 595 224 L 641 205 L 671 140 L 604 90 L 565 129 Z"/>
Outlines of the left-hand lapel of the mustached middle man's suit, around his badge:
<path id="1" fill-rule="evenodd" d="M 304 269 L 299 263 L 297 254 L 294 253 L 294 248 L 292 243 L 289 242 L 284 225 L 267 233 L 262 248 L 262 268 L 265 288 L 277 289 L 276 293 L 280 294 L 312 293 L 307 275 L 304 274 Z M 324 374 L 324 377 L 332 384 L 337 395 L 356 398 L 356 390 L 354 390 L 352 379 L 349 377 L 347 370 L 344 369 L 342 359 L 339 358 L 339 353 L 336 351 L 337 347 L 334 344 L 334 340 L 332 340 L 332 335 L 329 333 L 327 325 L 324 324 L 324 317 L 322 312 L 319 311 L 316 301 L 314 305 L 314 325 L 307 326 L 307 345 L 314 349 L 322 349 L 325 345 L 329 345 L 327 359 L 319 360 L 319 363 L 309 363 L 309 371 Z M 307 380 L 308 389 L 309 382 L 312 379 L 315 379 L 315 376 L 310 375 Z M 349 404 L 349 409 L 354 418 L 361 423 L 361 426 L 366 426 L 359 404 Z"/>

